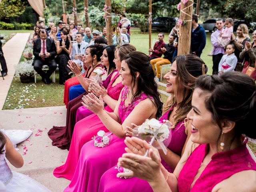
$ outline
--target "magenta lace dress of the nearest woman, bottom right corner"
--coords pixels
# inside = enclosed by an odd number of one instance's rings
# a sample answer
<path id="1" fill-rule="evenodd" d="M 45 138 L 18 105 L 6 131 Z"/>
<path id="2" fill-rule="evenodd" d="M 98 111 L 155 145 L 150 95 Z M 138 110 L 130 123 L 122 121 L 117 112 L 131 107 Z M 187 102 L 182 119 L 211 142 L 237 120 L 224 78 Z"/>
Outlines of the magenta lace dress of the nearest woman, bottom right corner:
<path id="1" fill-rule="evenodd" d="M 208 144 L 201 144 L 188 157 L 179 174 L 179 192 L 211 192 L 216 184 L 235 173 L 244 170 L 256 170 L 256 163 L 244 144 L 242 147 L 214 154 L 212 160 L 190 189 L 194 177 L 208 152 L 208 148 Z"/>

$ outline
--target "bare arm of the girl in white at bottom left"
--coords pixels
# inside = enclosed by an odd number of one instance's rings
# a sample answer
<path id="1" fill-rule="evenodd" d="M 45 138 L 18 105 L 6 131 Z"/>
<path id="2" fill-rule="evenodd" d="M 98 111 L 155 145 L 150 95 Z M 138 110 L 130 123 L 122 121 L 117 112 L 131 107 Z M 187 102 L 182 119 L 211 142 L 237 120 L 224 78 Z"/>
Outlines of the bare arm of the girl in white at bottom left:
<path id="1" fill-rule="evenodd" d="M 20 155 L 20 153 L 18 151 L 16 151 L 12 145 L 12 142 L 10 141 L 10 139 L 6 137 L 6 158 L 8 159 L 8 161 L 16 168 L 21 168 L 24 164 L 23 158 Z"/>

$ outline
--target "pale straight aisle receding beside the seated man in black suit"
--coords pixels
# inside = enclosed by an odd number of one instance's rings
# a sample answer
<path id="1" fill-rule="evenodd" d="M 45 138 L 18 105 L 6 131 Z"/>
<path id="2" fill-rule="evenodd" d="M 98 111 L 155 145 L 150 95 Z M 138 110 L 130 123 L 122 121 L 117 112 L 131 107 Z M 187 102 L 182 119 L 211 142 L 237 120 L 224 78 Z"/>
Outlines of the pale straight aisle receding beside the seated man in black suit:
<path id="1" fill-rule="evenodd" d="M 8 68 L 8 75 L 4 77 L 4 80 L 0 77 L 0 110 L 2 110 L 4 106 L 6 96 L 16 71 L 15 68 L 20 61 L 29 35 L 30 33 L 17 33 L 2 47 Z"/>

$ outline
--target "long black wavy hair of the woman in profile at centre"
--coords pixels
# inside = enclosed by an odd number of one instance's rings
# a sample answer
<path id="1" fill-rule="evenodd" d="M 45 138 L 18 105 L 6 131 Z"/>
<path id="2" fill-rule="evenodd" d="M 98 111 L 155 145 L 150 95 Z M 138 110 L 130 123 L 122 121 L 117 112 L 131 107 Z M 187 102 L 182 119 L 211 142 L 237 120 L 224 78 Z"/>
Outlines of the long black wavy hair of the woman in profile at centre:
<path id="1" fill-rule="evenodd" d="M 136 72 L 140 73 L 138 76 L 138 88 L 135 93 L 132 93 L 132 102 L 134 101 L 134 98 L 140 96 L 142 92 L 148 97 L 152 96 L 154 98 L 154 106 L 157 108 L 156 117 L 160 117 L 162 114 L 163 103 L 160 100 L 160 94 L 154 80 L 154 71 L 148 56 L 142 52 L 133 51 L 124 56 L 121 61 L 125 61 L 130 69 L 132 88 L 135 86 Z"/>

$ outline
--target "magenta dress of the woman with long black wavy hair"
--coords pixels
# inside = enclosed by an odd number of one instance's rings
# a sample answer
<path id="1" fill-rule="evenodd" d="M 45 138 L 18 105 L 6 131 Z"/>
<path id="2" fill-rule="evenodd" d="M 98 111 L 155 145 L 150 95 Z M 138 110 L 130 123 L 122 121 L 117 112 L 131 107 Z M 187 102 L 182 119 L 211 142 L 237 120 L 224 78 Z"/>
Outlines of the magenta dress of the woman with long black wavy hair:
<path id="1" fill-rule="evenodd" d="M 132 104 L 126 107 L 124 101 L 128 90 L 128 87 L 125 86 L 122 91 L 122 100 L 118 106 L 121 123 L 140 101 L 148 98 L 146 94 L 142 93 L 134 99 Z M 116 164 L 118 158 L 125 152 L 125 146 L 124 138 L 118 138 L 114 134 L 110 136 L 109 145 L 104 148 L 94 146 L 94 140 L 84 144 L 74 177 L 64 192 L 97 192 L 101 176 Z"/>

